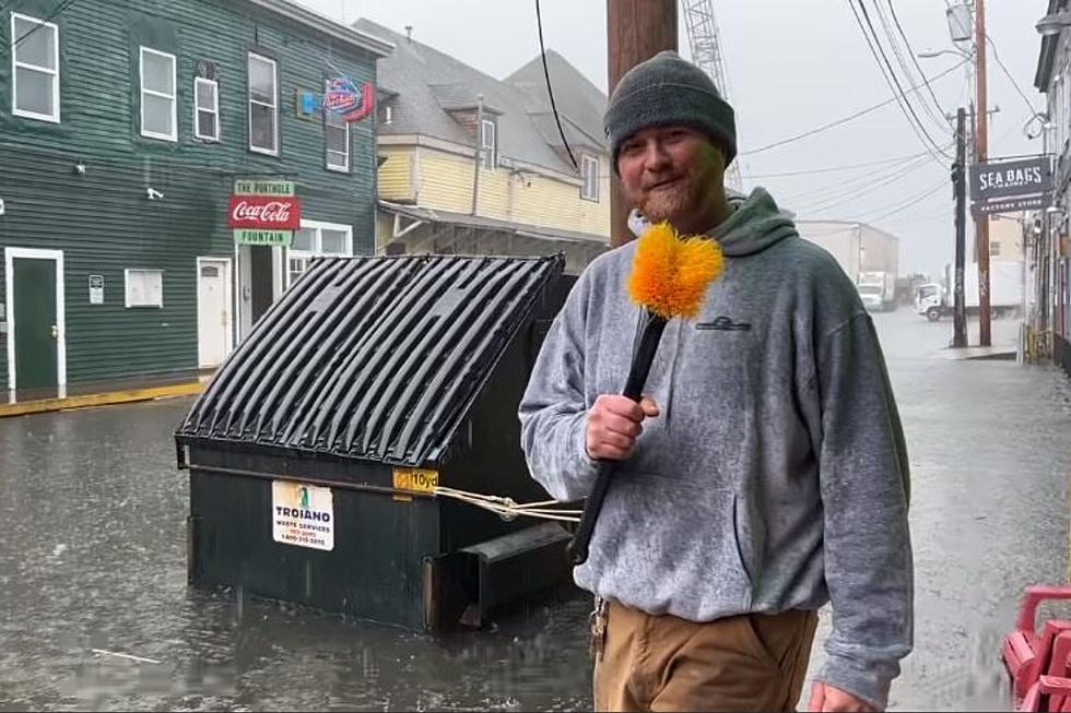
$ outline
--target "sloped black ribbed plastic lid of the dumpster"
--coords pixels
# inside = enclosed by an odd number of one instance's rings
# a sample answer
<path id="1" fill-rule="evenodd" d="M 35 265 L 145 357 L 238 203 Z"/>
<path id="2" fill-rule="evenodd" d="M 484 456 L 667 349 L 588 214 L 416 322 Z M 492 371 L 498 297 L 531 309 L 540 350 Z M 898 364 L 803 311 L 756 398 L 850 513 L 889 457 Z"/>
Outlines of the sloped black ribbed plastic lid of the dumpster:
<path id="1" fill-rule="evenodd" d="M 561 256 L 316 259 L 176 438 L 437 462 L 563 266 Z"/>

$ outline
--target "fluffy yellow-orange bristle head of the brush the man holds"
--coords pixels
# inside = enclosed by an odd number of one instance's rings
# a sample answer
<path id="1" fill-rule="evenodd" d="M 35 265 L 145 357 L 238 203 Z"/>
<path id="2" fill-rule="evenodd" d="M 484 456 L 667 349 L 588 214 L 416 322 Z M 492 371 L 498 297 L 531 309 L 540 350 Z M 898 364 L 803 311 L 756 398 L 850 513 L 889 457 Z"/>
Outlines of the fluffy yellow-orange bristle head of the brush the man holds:
<path id="1" fill-rule="evenodd" d="M 659 223 L 639 238 L 628 294 L 659 317 L 696 317 L 707 287 L 722 270 L 725 258 L 717 240 L 682 238 L 669 223 Z"/>

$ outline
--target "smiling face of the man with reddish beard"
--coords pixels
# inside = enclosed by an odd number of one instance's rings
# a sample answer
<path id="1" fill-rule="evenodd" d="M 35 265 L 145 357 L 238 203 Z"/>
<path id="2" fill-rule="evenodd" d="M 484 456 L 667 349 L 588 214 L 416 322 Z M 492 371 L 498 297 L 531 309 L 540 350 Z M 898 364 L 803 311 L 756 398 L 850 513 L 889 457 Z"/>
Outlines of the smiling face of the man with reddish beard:
<path id="1" fill-rule="evenodd" d="M 651 222 L 669 221 L 679 228 L 702 221 L 725 190 L 721 152 L 688 127 L 636 132 L 621 146 L 617 173 L 632 206 Z"/>

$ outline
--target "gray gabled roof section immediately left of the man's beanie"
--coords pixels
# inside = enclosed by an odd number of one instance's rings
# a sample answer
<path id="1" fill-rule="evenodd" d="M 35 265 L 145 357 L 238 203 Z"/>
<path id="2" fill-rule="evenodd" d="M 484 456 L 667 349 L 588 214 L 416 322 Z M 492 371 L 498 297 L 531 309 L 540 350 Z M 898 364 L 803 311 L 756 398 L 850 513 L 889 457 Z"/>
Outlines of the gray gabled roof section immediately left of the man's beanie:
<path id="1" fill-rule="evenodd" d="M 551 78 L 554 106 L 557 107 L 558 115 L 563 119 L 563 127 L 572 123 L 590 140 L 598 142 L 598 146 L 609 151 L 605 130 L 602 127 L 602 117 L 607 111 L 607 95 L 589 82 L 568 60 L 552 49 L 546 51 L 546 74 Z M 546 74 L 543 73 L 543 60 L 537 55 L 505 81 L 528 98 L 530 112 L 550 117 L 553 126 L 551 100 L 546 92 Z M 568 131 L 566 136 L 570 142 L 573 141 Z M 554 141 L 561 143 L 557 127 L 554 127 Z"/>

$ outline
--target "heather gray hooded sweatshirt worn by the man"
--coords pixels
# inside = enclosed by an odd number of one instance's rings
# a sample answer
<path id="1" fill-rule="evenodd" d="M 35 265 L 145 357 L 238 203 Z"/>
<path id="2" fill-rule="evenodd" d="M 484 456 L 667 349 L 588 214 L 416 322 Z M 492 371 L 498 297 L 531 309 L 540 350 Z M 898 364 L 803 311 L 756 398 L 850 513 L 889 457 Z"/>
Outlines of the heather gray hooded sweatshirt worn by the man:
<path id="1" fill-rule="evenodd" d="M 766 191 L 711 231 L 726 271 L 696 320 L 666 328 L 645 393 L 661 407 L 620 464 L 579 586 L 709 621 L 833 602 L 819 679 L 884 708 L 911 649 L 909 474 L 870 317 L 834 259 Z M 636 242 L 584 272 L 520 405 L 532 475 L 584 498 L 587 409 L 620 393 L 638 307 Z"/>

